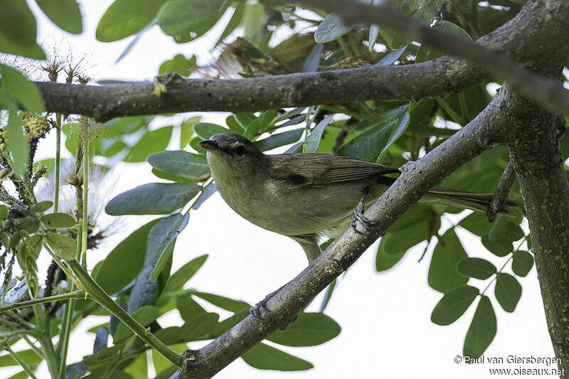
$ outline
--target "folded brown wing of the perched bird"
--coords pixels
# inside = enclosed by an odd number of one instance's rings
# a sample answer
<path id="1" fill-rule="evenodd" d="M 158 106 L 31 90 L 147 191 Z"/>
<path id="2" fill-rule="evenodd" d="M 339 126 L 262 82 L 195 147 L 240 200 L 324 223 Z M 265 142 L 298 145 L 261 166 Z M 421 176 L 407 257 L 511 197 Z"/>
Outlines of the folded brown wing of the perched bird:
<path id="1" fill-rule="evenodd" d="M 399 172 L 381 164 L 335 154 L 278 154 L 271 157 L 270 176 L 291 186 L 325 186 Z"/>

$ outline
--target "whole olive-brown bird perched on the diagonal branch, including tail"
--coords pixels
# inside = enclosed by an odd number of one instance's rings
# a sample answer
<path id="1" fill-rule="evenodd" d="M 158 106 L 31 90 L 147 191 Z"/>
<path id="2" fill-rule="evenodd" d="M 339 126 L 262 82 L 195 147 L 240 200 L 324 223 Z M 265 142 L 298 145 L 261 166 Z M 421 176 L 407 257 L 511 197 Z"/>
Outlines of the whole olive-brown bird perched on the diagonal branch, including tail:
<path id="1" fill-rule="evenodd" d="M 223 200 L 251 223 L 291 237 L 308 262 L 321 253 L 319 240 L 336 237 L 355 220 L 370 227 L 363 209 L 395 182 L 398 169 L 337 154 L 264 154 L 240 134 L 214 134 L 198 143 Z M 491 194 L 435 187 L 422 203 L 486 211 Z M 501 214 L 511 215 L 506 202 Z M 357 230 L 357 229 L 356 229 Z"/>

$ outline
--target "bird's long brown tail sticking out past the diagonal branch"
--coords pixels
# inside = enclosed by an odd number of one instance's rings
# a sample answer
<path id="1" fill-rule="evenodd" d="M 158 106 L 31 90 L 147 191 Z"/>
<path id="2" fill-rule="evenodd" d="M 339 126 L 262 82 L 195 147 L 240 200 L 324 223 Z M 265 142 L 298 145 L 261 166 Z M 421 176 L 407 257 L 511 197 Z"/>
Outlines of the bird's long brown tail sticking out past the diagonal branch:
<path id="1" fill-rule="evenodd" d="M 465 191 L 455 191 L 447 188 L 435 187 L 421 198 L 422 203 L 437 203 L 450 205 L 457 208 L 466 208 L 486 212 L 492 199 L 491 194 L 472 193 Z M 521 203 L 515 200 L 507 200 L 506 207 L 501 210 L 500 215 L 515 215 L 519 213 L 516 208 L 521 207 Z"/>

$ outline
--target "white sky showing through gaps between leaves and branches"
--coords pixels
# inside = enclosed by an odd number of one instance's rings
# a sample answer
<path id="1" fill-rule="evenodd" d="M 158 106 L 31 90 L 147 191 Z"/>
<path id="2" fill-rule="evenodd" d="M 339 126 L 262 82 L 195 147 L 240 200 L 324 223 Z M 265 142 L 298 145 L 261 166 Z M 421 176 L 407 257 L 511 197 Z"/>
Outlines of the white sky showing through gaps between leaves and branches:
<path id="1" fill-rule="evenodd" d="M 63 57 L 69 51 L 73 52 L 75 60 L 85 56 L 83 69 L 88 76 L 97 80 L 151 80 L 159 65 L 176 53 L 186 56 L 196 54 L 198 62 L 207 63 L 211 46 L 224 27 L 218 26 L 196 42 L 178 45 L 155 26 L 122 61 L 115 64 L 132 37 L 117 43 L 99 43 L 95 40 L 97 22 L 112 1 L 80 3 L 84 32 L 80 36 L 71 36 L 53 26 L 46 16 L 38 13 L 35 3 L 28 1 L 38 18 L 38 42 L 44 43 L 48 53 L 55 48 Z M 202 115 L 207 121 L 220 124 L 225 119 L 221 114 Z M 159 119 L 153 125 L 159 127 L 166 124 L 171 124 L 171 120 Z M 39 154 L 42 157 L 53 156 L 54 144 L 53 136 L 50 136 L 42 142 Z M 173 141 L 169 149 L 179 149 L 179 142 Z M 112 178 L 117 180 L 112 189 L 113 195 L 139 184 L 159 181 L 151 174 L 147 163 L 118 164 Z M 456 223 L 465 214 L 449 219 Z M 124 236 L 147 220 L 149 217 L 144 216 L 125 218 L 120 235 L 113 236 L 112 241 L 107 241 L 101 249 L 90 252 L 92 262 L 104 257 Z M 449 226 L 450 223 L 443 222 L 444 229 Z M 491 255 L 482 247 L 479 239 L 469 233 L 462 230 L 457 230 L 457 233 L 470 256 L 484 257 L 497 267 L 501 267 L 507 259 Z M 374 269 L 376 248 L 377 243 L 345 276 L 342 275 L 326 309 L 326 314 L 341 325 L 342 331 L 338 337 L 312 348 L 277 346 L 312 362 L 314 369 L 297 373 L 256 370 L 238 359 L 216 378 L 489 378 L 489 367 L 553 367 L 454 363 L 454 357 L 462 354 L 464 336 L 475 306 L 471 306 L 459 321 L 450 326 L 432 324 L 432 309 L 442 297 L 427 285 L 432 249 L 418 263 L 424 248 L 424 245 L 420 245 L 420 248 L 408 252 L 394 269 L 378 274 Z M 198 211 L 191 211 L 190 223 L 176 243 L 173 271 L 204 253 L 209 254 L 209 258 L 189 282 L 191 287 L 243 299 L 250 304 L 255 304 L 265 294 L 288 282 L 307 264 L 304 252 L 296 242 L 240 218 L 218 194 L 206 201 Z M 507 267 L 506 272 L 510 272 L 511 265 Z M 507 356 L 554 356 L 535 267 L 520 282 L 523 294 L 513 314 L 503 311 L 495 301 L 494 284 L 489 289 L 498 331 L 494 342 L 486 350 L 486 357 L 499 356 L 505 361 Z M 477 279 L 471 279 L 469 284 L 482 288 L 486 286 L 486 283 L 480 284 Z M 320 302 L 321 296 L 307 310 L 317 311 Z M 223 311 L 220 313 L 222 317 L 227 315 Z M 76 329 L 70 343 L 70 362 L 80 361 L 83 356 L 92 353 L 95 336 L 85 333 L 85 330 L 104 321 L 105 318 L 92 316 Z M 182 323 L 179 317 L 174 316 L 160 321 L 164 327 Z M 208 342 L 190 343 L 189 346 L 199 348 Z M 0 377 L 8 377 L 16 371 L 14 368 L 0 368 Z M 46 378 L 47 375 L 44 365 L 39 377 Z"/>

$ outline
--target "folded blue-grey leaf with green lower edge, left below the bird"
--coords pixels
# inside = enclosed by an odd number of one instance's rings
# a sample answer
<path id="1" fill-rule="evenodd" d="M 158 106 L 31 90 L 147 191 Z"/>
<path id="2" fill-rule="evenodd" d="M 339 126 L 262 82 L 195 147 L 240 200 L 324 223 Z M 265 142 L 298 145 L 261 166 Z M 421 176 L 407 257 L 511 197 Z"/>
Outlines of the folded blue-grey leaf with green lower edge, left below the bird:
<path id="1" fill-rule="evenodd" d="M 162 269 L 164 269 L 172 253 L 172 250 L 168 247 L 174 242 L 181 231 L 186 228 L 189 218 L 190 213 L 187 212 L 184 213 L 184 215 L 180 213 L 169 215 L 156 223 L 148 233 L 145 264 L 154 266 L 150 277 L 151 282 L 158 279 L 158 275 L 162 272 Z"/>

